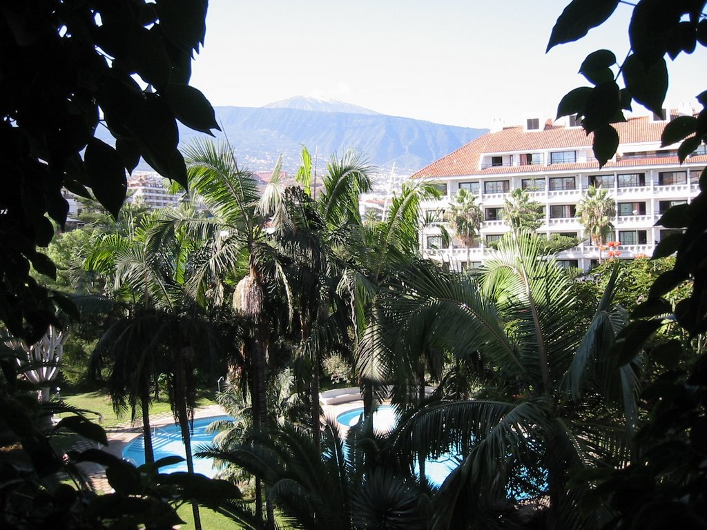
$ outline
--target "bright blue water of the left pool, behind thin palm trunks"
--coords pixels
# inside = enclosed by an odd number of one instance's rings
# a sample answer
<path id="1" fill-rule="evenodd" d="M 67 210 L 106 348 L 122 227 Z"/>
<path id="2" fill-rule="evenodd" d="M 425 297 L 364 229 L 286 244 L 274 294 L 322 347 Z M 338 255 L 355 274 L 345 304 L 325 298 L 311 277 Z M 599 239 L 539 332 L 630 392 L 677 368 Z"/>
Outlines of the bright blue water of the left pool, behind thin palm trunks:
<path id="1" fill-rule="evenodd" d="M 229 416 L 218 416 L 214 418 L 201 418 L 194 420 L 194 432 L 192 433 L 192 452 L 196 452 L 199 445 L 209 444 L 214 440 L 217 432 L 206 432 L 206 427 L 209 423 L 216 420 L 230 420 Z M 182 433 L 179 425 L 163 425 L 162 427 L 153 428 L 152 435 L 153 451 L 155 460 L 164 457 L 182 457 L 186 458 L 184 442 L 182 442 Z M 144 437 L 136 437 L 132 442 L 129 442 L 123 449 L 123 459 L 131 464 L 141 466 L 145 463 L 145 440 Z M 187 471 L 187 462 L 182 461 L 179 464 L 164 466 L 160 468 L 160 473 L 175 473 L 175 471 Z M 212 459 L 201 459 L 194 457 L 194 472 L 206 475 L 213 478 L 216 474 L 214 469 L 214 461 Z"/>

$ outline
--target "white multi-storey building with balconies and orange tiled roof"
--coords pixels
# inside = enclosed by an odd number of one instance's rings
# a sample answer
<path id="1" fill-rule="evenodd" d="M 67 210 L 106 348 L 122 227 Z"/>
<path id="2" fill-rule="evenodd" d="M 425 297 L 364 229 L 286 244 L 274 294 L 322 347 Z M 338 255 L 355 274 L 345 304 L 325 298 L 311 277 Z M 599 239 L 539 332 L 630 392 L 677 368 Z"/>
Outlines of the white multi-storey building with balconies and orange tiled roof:
<path id="1" fill-rule="evenodd" d="M 576 209 L 593 184 L 609 189 L 617 203 L 609 241 L 621 244 L 621 259 L 650 256 L 672 232 L 656 221 L 670 206 L 689 203 L 699 193 L 699 176 L 707 165 L 704 145 L 683 164 L 677 158 L 677 144 L 660 146 L 665 124 L 677 115 L 664 111 L 661 116 L 632 117 L 615 124 L 621 143 L 601 169 L 592 153 L 592 135 L 587 136 L 574 117 L 557 122 L 534 117 L 522 126 L 501 127 L 423 167 L 411 178 L 429 179 L 443 192 L 439 201 L 423 205 L 428 213 L 443 218 L 453 196 L 466 189 L 477 196 L 485 219 L 468 253 L 454 238 L 444 245 L 438 225 L 424 228 L 423 254 L 457 270 L 479 266 L 489 257 L 489 243 L 510 230 L 502 215 L 508 193 L 522 188 L 543 206 L 540 235 L 568 235 L 581 241 L 557 259 L 587 270 L 599 258 L 599 249 L 584 234 Z"/>

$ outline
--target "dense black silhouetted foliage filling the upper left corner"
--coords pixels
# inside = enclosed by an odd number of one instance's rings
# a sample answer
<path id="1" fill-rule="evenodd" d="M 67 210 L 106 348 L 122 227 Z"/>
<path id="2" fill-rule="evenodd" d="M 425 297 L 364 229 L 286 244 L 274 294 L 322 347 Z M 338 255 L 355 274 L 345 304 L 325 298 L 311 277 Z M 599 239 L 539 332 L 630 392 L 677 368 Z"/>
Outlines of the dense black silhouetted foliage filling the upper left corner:
<path id="1" fill-rule="evenodd" d="M 186 183 L 177 120 L 218 129 L 209 102 L 187 84 L 205 17 L 205 0 L 2 6 L 0 146 L 8 177 L 0 198 L 0 319 L 13 336 L 35 341 L 53 322 L 54 302 L 66 303 L 29 276 L 30 264 L 56 275 L 37 247 L 54 235 L 49 218 L 66 221 L 62 187 L 93 195 L 117 216 L 125 172 L 140 157 Z M 98 126 L 117 139 L 115 148 L 95 138 Z"/>

